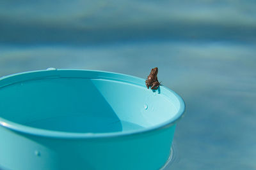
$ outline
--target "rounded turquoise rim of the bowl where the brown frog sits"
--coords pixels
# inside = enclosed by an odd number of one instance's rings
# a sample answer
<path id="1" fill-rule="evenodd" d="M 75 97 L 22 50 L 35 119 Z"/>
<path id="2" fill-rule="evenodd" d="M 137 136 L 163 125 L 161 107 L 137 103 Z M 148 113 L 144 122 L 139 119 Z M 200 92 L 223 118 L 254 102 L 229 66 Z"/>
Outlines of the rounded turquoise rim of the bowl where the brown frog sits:
<path id="1" fill-rule="evenodd" d="M 83 72 L 82 72 L 83 71 Z M 75 76 L 77 78 L 81 78 L 84 76 L 84 78 L 90 78 L 84 75 L 84 73 L 88 73 L 89 75 L 97 76 L 97 78 L 104 78 L 104 79 L 111 79 L 111 80 L 116 80 L 116 81 L 125 81 L 127 83 L 132 83 L 133 85 L 139 85 L 141 87 L 145 87 L 145 80 L 142 78 L 138 78 L 136 76 L 131 76 L 128 74 L 122 74 L 122 73 L 114 73 L 114 72 L 109 72 L 109 71 L 100 71 L 100 70 L 92 70 L 92 69 L 46 69 L 46 70 L 37 70 L 37 71 L 26 71 L 22 73 L 15 73 L 15 74 L 10 74 L 8 76 L 3 76 L 0 78 L 0 89 L 2 87 L 11 85 L 13 83 L 18 83 L 19 81 L 28 81 L 33 78 L 33 80 L 38 80 L 42 78 L 61 78 L 61 77 L 66 77 L 63 76 L 61 73 L 68 73 L 70 72 L 70 76 L 73 75 L 74 73 L 77 73 L 78 76 Z M 42 73 L 45 73 L 44 76 L 42 76 Z M 82 74 L 79 74 L 82 73 Z M 38 76 L 40 74 L 40 76 Z M 70 77 L 68 76 L 68 77 Z M 95 78 L 95 77 L 91 77 Z M 161 122 L 160 124 L 153 125 L 147 128 L 143 129 L 138 129 L 136 131 L 124 131 L 124 132 L 104 132 L 104 133 L 92 133 L 92 132 L 86 132 L 86 133 L 81 133 L 81 132 L 60 132 L 60 131 L 51 131 L 51 130 L 46 130 L 46 129 L 38 129 L 35 127 L 29 127 L 27 125 L 21 125 L 17 124 L 15 122 L 12 122 L 10 120 L 6 120 L 2 117 L 0 117 L 0 126 L 5 127 L 7 129 L 10 129 L 15 132 L 20 132 L 24 134 L 30 134 L 33 136 L 44 136 L 44 137 L 49 137 L 49 138 L 111 138 L 111 137 L 118 137 L 118 136 L 130 136 L 130 135 L 135 135 L 135 134 L 144 134 L 147 132 L 152 132 L 152 131 L 157 131 L 160 129 L 165 129 L 168 128 L 172 125 L 175 125 L 177 121 L 180 120 L 184 116 L 186 106 L 184 103 L 184 100 L 182 97 L 180 97 L 176 92 L 174 92 L 171 89 L 168 89 L 167 87 L 164 87 L 163 85 L 161 86 L 161 89 L 164 89 L 168 93 L 172 93 L 177 100 L 179 101 L 180 107 L 177 113 L 175 114 L 174 117 L 170 118 L 169 120 L 165 122 Z"/>

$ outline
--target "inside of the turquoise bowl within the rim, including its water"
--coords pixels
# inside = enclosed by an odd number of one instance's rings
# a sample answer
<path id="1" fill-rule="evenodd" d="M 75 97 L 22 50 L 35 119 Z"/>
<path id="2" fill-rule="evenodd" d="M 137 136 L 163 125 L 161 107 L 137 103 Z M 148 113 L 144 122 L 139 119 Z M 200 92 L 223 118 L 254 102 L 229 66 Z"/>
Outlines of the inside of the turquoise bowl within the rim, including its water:
<path id="1" fill-rule="evenodd" d="M 168 121 L 179 110 L 147 87 L 90 78 L 20 81 L 1 87 L 0 101 L 6 120 L 65 132 L 137 130 Z"/>

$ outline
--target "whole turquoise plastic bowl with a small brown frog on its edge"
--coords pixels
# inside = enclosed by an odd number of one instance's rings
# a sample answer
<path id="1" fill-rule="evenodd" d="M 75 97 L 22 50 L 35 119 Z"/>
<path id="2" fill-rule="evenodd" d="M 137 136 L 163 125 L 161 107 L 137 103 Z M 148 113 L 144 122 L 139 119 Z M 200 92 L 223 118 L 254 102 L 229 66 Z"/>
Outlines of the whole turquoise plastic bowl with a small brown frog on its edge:
<path id="1" fill-rule="evenodd" d="M 145 80 L 48 69 L 0 78 L 0 167 L 159 169 L 184 101 Z"/>

